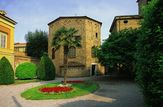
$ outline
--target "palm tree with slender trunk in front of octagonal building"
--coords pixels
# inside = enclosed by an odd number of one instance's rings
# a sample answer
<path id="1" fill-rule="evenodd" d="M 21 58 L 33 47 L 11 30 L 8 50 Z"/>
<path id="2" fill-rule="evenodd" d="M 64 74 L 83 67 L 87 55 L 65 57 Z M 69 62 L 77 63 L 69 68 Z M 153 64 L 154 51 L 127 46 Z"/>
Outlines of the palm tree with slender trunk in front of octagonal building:
<path id="1" fill-rule="evenodd" d="M 61 27 L 54 33 L 52 46 L 54 51 L 57 51 L 61 46 L 64 48 L 64 84 L 66 84 L 67 69 L 68 69 L 68 52 L 69 47 L 80 47 L 80 40 L 75 39 L 74 34 L 78 31 L 75 28 Z"/>

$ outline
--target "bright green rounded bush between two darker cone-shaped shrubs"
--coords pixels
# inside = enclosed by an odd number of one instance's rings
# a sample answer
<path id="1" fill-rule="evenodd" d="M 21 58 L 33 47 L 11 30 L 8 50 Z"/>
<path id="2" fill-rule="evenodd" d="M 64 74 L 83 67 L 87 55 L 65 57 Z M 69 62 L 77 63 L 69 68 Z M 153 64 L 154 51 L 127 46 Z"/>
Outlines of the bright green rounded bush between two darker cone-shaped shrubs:
<path id="1" fill-rule="evenodd" d="M 30 62 L 20 64 L 16 68 L 16 77 L 18 79 L 33 79 L 36 77 L 36 65 Z"/>

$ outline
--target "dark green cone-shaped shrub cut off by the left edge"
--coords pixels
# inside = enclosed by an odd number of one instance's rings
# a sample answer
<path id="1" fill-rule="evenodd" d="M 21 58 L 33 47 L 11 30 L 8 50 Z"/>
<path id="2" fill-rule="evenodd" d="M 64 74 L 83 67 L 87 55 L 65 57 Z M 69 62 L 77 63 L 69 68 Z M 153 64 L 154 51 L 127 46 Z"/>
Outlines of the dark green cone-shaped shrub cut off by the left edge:
<path id="1" fill-rule="evenodd" d="M 7 58 L 0 60 L 0 84 L 14 83 L 14 70 Z"/>

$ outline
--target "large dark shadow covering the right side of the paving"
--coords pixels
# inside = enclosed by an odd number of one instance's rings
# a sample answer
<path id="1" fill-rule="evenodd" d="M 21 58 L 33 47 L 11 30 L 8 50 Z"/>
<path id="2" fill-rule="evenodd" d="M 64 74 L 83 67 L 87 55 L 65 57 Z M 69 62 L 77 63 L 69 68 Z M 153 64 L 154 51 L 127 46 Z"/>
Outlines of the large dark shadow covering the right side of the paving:
<path id="1" fill-rule="evenodd" d="M 100 89 L 89 99 L 62 104 L 61 107 L 143 107 L 143 96 L 131 80 L 109 80 L 108 77 L 93 78 Z"/>

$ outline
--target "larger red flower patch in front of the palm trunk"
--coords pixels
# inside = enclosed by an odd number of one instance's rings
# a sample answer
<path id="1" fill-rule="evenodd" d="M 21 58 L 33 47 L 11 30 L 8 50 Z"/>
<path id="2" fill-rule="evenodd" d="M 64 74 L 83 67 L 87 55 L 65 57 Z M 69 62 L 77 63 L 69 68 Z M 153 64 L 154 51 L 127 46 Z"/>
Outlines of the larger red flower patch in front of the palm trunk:
<path id="1" fill-rule="evenodd" d="M 44 87 L 44 88 L 41 88 L 39 90 L 41 92 L 47 92 L 47 93 L 50 93 L 50 92 L 59 93 L 59 92 L 69 92 L 72 89 L 73 88 L 71 88 L 71 87 L 59 87 L 59 86 L 56 86 L 56 87 Z"/>

